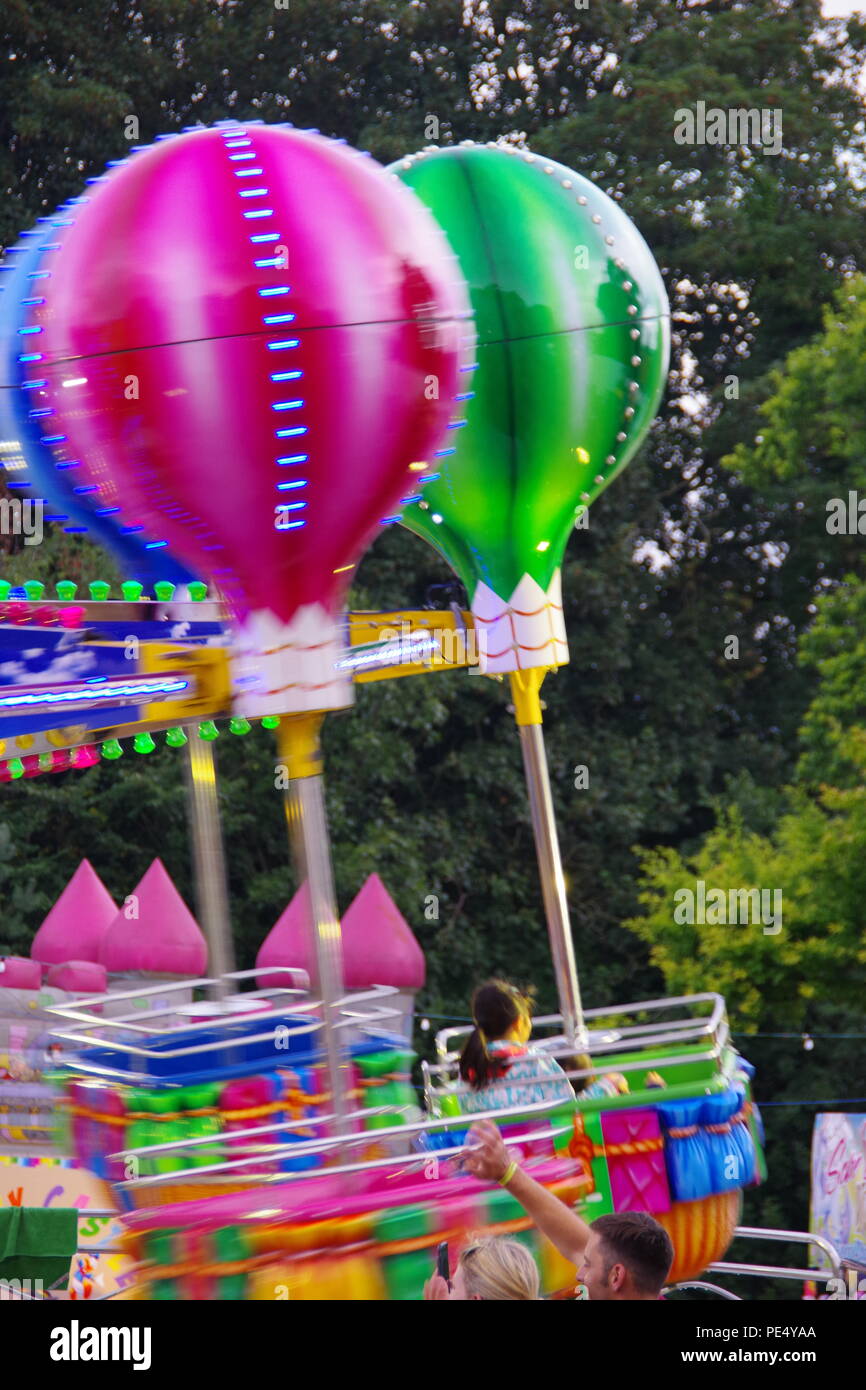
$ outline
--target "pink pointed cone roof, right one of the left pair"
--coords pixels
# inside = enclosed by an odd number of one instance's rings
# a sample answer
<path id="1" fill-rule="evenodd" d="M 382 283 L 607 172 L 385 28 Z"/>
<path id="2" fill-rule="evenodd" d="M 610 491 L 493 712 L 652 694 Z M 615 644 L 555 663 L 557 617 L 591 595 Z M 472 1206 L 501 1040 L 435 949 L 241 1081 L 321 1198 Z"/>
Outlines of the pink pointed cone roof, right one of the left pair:
<path id="1" fill-rule="evenodd" d="M 117 973 L 204 974 L 207 942 L 199 923 L 154 859 L 129 898 L 138 898 L 138 916 L 121 908 L 106 931 L 99 959 Z"/>

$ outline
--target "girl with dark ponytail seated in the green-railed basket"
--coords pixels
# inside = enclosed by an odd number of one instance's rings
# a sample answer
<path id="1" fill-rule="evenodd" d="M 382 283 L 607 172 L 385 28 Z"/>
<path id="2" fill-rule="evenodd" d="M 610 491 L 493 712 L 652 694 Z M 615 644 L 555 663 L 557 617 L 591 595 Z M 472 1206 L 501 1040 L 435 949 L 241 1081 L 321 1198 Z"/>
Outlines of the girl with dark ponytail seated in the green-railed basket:
<path id="1" fill-rule="evenodd" d="M 520 1109 L 538 1101 L 573 1101 L 566 1073 L 546 1052 L 530 1047 L 532 1002 L 506 980 L 488 980 L 473 995 L 474 1029 L 460 1054 L 460 1097 L 466 1113 Z"/>

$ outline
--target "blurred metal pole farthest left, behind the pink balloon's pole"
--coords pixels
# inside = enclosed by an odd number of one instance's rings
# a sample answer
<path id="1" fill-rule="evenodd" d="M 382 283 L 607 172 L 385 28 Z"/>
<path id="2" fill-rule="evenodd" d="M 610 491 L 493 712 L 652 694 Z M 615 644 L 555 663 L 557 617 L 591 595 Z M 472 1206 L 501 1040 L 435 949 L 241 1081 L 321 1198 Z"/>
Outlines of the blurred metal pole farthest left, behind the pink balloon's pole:
<path id="1" fill-rule="evenodd" d="M 196 906 L 207 938 L 209 970 L 220 981 L 215 994 L 224 998 L 232 990 L 225 976 L 235 969 L 235 951 L 217 799 L 217 760 L 213 744 L 197 738 L 193 731 L 186 744 L 185 766 Z"/>

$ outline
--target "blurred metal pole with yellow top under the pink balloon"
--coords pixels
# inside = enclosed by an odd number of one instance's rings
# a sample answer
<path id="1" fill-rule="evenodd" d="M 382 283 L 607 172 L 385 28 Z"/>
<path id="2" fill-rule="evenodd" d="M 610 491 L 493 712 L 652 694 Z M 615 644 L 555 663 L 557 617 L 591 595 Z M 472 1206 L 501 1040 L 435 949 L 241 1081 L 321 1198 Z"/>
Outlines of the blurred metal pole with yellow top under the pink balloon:
<path id="1" fill-rule="evenodd" d="M 335 1009 L 343 997 L 343 940 L 336 910 L 331 842 L 325 816 L 324 777 L 318 728 L 321 714 L 284 716 L 278 731 L 279 756 L 285 762 L 289 785 L 285 796 L 286 824 L 299 883 L 310 894 L 309 931 L 316 959 L 316 988 L 321 998 L 325 1062 L 331 1086 L 334 1127 L 346 1131 L 349 1105 L 348 1070 L 341 1056 Z"/>

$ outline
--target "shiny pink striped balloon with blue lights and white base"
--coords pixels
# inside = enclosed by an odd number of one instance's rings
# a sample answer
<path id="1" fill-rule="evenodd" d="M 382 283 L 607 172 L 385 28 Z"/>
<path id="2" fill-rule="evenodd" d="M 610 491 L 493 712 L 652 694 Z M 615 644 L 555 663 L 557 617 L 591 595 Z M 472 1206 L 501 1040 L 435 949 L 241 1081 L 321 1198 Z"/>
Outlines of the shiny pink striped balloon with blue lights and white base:
<path id="1" fill-rule="evenodd" d="M 238 712 L 348 703 L 342 592 L 471 370 L 434 218 L 342 142 L 225 124 L 133 154 L 60 238 L 22 329 L 58 464 L 215 581 Z"/>

